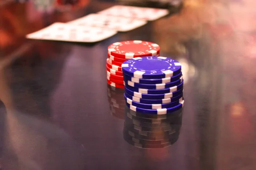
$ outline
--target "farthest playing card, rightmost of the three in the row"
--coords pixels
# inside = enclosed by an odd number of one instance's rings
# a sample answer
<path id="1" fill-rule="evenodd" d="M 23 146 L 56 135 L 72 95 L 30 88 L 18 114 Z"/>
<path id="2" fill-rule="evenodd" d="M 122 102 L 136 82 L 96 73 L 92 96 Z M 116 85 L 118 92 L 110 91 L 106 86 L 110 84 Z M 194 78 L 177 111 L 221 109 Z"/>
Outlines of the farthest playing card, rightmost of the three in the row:
<path id="1" fill-rule="evenodd" d="M 99 14 L 131 17 L 142 20 L 157 20 L 160 17 L 167 15 L 169 11 L 167 9 L 158 8 L 144 8 L 135 6 L 112 6 L 111 8 L 100 11 Z"/>

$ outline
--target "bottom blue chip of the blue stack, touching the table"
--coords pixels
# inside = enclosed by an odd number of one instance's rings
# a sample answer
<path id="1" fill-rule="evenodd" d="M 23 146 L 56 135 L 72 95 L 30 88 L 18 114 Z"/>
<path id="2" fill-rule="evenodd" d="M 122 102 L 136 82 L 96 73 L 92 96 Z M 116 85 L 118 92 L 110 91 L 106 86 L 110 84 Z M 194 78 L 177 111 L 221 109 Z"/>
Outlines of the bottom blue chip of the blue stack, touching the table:
<path id="1" fill-rule="evenodd" d="M 146 114 L 167 114 L 175 112 L 184 106 L 184 100 L 180 102 L 180 104 L 172 107 L 172 108 L 163 108 L 163 109 L 143 109 L 143 108 L 137 108 L 136 106 L 130 105 L 126 103 L 127 107 L 130 108 L 132 111 L 140 112 L 140 113 L 146 113 Z"/>

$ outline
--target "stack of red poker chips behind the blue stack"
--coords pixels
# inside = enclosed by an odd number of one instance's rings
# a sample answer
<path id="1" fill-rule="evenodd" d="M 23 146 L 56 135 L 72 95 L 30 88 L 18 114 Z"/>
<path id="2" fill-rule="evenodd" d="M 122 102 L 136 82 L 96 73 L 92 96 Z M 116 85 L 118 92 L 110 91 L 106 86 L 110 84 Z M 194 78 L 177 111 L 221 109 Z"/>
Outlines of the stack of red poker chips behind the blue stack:
<path id="1" fill-rule="evenodd" d="M 108 46 L 107 82 L 116 88 L 125 88 L 122 63 L 128 59 L 145 56 L 159 56 L 160 47 L 153 42 L 133 40 L 115 42 Z"/>

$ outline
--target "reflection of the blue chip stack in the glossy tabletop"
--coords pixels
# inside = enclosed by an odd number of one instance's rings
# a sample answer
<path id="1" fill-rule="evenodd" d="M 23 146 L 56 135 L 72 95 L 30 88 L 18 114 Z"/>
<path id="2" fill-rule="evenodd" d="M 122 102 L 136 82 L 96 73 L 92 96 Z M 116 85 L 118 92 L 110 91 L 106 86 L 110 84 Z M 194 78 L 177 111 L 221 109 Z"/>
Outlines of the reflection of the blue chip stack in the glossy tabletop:
<path id="1" fill-rule="evenodd" d="M 123 136 L 129 144 L 147 149 L 168 147 L 180 134 L 182 109 L 172 114 L 144 114 L 125 107 Z"/>

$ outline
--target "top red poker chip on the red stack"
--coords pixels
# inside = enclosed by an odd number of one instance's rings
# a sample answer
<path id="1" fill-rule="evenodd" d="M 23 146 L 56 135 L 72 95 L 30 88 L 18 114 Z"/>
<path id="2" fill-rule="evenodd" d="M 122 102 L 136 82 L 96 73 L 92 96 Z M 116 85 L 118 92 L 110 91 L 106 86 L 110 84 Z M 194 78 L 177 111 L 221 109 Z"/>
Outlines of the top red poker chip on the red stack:
<path id="1" fill-rule="evenodd" d="M 159 53 L 159 45 L 140 40 L 115 42 L 108 46 L 108 54 L 124 59 L 156 56 Z"/>

